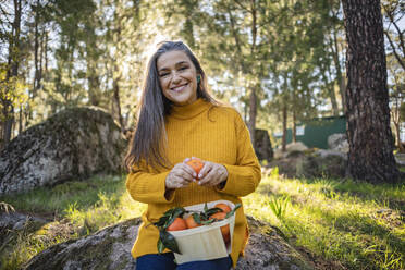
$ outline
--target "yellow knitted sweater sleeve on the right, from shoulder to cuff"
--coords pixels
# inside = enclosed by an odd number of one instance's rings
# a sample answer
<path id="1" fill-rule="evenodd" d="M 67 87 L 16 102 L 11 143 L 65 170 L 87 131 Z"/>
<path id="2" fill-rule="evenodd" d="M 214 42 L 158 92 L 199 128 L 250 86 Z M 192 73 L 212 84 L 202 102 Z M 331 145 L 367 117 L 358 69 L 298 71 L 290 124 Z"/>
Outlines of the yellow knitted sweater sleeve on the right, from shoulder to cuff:
<path id="1" fill-rule="evenodd" d="M 236 163 L 223 164 L 228 170 L 228 180 L 225 185 L 222 188 L 217 187 L 217 191 L 242 197 L 255 192 L 261 180 L 261 171 L 259 161 L 251 146 L 249 131 L 241 115 L 238 113 L 236 114 Z"/>

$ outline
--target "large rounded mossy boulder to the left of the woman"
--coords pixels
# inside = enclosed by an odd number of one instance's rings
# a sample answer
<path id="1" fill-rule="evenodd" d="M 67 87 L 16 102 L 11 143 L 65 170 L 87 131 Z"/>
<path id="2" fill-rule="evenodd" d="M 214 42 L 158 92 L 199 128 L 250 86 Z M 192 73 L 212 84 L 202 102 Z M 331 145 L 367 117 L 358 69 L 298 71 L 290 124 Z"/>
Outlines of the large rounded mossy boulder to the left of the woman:
<path id="1" fill-rule="evenodd" d="M 0 154 L 0 195 L 122 172 L 126 140 L 101 109 L 63 110 L 15 137 Z"/>

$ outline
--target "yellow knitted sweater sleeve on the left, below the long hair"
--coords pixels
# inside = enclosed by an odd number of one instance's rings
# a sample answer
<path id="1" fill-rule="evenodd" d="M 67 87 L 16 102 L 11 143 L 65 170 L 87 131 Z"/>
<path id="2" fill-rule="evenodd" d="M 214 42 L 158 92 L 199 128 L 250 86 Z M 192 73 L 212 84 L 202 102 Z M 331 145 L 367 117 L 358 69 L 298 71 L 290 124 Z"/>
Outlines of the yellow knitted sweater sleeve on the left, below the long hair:
<path id="1" fill-rule="evenodd" d="M 126 191 L 131 197 L 145 204 L 169 204 L 174 199 L 174 193 L 169 198 L 165 194 L 165 177 L 168 172 L 150 173 L 144 167 L 133 167 L 133 171 L 126 176 Z"/>

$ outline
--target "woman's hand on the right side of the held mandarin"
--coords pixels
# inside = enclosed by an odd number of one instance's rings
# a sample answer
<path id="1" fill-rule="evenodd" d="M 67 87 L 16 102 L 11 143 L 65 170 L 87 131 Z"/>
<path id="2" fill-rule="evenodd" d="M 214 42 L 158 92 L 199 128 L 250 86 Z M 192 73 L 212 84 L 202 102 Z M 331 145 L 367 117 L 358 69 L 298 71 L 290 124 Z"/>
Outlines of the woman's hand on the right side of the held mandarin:
<path id="1" fill-rule="evenodd" d="M 204 161 L 204 167 L 198 174 L 198 185 L 216 186 L 228 180 L 228 170 L 224 165 Z"/>

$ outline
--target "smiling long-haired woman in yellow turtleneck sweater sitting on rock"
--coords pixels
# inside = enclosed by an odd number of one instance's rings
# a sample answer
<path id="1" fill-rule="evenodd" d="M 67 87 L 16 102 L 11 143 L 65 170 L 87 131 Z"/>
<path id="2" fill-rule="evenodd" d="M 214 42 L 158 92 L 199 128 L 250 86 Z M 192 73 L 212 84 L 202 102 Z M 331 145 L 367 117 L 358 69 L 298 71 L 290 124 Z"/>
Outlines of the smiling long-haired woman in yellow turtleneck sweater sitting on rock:
<path id="1" fill-rule="evenodd" d="M 192 157 L 204 160 L 199 175 L 186 164 Z M 204 70 L 182 41 L 161 44 L 149 60 L 125 163 L 131 170 L 126 189 L 148 205 L 132 249 L 136 269 L 236 266 L 248 236 L 243 207 L 236 211 L 231 256 L 217 260 L 176 266 L 172 253 L 158 255 L 159 231 L 148 225 L 176 206 L 219 199 L 242 204 L 240 197 L 254 192 L 261 177 L 241 115 L 209 95 Z"/>

